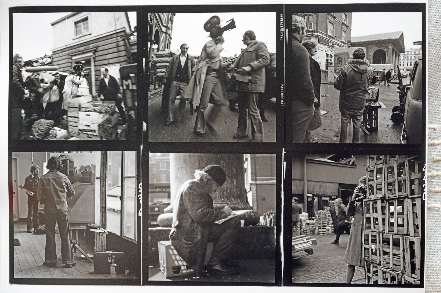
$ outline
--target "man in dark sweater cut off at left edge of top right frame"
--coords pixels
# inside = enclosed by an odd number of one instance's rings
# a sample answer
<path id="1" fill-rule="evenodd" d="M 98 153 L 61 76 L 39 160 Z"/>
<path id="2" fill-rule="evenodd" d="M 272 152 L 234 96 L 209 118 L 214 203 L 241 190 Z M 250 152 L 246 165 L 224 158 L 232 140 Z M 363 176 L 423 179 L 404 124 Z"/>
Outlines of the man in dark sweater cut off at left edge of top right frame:
<path id="1" fill-rule="evenodd" d="M 309 70 L 309 54 L 300 43 L 306 36 L 303 18 L 292 16 L 292 60 L 293 60 L 293 100 L 292 100 L 292 142 L 303 143 L 309 122 L 314 115 L 314 86 Z"/>

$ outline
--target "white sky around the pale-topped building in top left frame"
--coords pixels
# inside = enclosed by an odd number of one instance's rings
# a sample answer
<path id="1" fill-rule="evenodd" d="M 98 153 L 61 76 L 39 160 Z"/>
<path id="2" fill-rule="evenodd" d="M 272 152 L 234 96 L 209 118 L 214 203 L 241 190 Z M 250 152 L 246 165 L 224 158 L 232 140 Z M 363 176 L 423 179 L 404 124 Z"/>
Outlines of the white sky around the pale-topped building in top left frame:
<path id="1" fill-rule="evenodd" d="M 131 29 L 136 26 L 136 12 L 127 12 Z M 61 13 L 15 13 L 12 18 L 14 53 L 22 55 L 23 60 L 52 54 L 53 28 L 51 22 L 70 12 Z"/>

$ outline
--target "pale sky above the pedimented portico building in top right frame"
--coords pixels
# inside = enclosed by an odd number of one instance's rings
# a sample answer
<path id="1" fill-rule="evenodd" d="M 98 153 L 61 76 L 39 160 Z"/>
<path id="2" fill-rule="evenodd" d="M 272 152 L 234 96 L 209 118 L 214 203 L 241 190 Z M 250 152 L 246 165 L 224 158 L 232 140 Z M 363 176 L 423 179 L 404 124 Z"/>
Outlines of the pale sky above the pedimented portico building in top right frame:
<path id="1" fill-rule="evenodd" d="M 352 37 L 402 30 L 404 46 L 409 49 L 413 42 L 422 41 L 421 22 L 421 12 L 354 12 Z"/>

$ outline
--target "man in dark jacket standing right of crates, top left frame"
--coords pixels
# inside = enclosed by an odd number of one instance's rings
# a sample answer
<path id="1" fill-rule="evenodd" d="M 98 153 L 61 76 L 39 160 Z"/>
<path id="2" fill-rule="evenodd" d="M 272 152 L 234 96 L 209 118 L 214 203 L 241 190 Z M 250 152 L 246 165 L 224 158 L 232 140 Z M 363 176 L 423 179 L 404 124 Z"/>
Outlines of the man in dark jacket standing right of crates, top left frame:
<path id="1" fill-rule="evenodd" d="M 99 98 L 102 94 L 105 101 L 114 101 L 115 106 L 120 112 L 123 124 L 126 124 L 126 112 L 124 112 L 123 106 L 121 105 L 120 84 L 118 84 L 116 78 L 112 77 L 108 72 L 109 70 L 107 68 L 101 69 L 103 78 L 101 78 L 100 86 L 98 87 L 98 92 L 95 98 Z"/>

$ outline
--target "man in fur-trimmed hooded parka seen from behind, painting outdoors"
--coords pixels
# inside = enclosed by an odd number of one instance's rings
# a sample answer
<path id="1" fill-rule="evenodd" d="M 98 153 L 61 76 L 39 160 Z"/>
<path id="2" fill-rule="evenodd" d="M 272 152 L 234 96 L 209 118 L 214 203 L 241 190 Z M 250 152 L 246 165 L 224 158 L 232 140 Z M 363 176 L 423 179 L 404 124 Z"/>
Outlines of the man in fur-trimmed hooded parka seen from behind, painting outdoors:
<path id="1" fill-rule="evenodd" d="M 364 50 L 355 49 L 352 55 L 354 59 L 349 59 L 348 64 L 341 67 L 334 83 L 334 88 L 340 91 L 340 143 L 346 143 L 350 120 L 354 126 L 352 143 L 360 142 L 360 125 L 372 77 L 372 68 L 369 67 L 369 61 L 364 59 Z"/>

